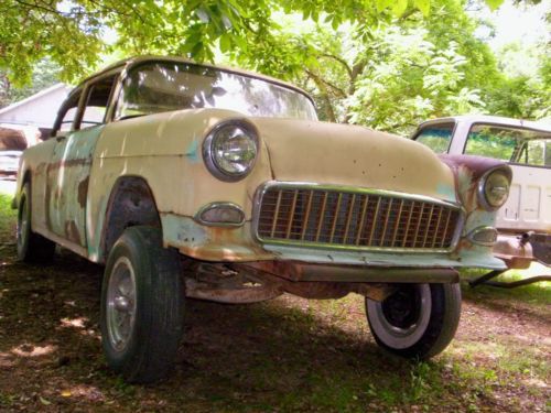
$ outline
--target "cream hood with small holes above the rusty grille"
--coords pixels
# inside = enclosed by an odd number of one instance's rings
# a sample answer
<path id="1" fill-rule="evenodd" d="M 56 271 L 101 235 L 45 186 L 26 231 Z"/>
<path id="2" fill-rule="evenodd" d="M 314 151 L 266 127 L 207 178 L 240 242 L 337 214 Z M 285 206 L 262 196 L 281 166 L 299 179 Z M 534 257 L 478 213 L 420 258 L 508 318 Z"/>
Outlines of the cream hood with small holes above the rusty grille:
<path id="1" fill-rule="evenodd" d="M 424 145 L 363 127 L 253 118 L 273 178 L 397 191 L 456 202 L 454 174 Z"/>

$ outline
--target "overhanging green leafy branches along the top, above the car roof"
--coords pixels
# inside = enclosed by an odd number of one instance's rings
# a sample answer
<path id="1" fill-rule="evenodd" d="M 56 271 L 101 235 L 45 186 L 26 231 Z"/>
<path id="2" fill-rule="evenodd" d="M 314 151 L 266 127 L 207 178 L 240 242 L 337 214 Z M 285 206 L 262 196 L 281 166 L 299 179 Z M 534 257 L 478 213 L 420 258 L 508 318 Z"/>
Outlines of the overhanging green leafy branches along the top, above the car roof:
<path id="1" fill-rule="evenodd" d="M 428 14 L 430 7 L 431 0 L 3 0 L 0 69 L 21 85 L 46 56 L 62 67 L 65 80 L 94 69 L 101 53 L 114 48 L 213 61 L 217 46 L 247 54 L 249 37 L 270 41 L 279 26 L 277 11 L 337 28 L 346 21 L 372 23 L 388 13 Z M 102 42 L 106 30 L 118 34 L 116 44 Z"/>

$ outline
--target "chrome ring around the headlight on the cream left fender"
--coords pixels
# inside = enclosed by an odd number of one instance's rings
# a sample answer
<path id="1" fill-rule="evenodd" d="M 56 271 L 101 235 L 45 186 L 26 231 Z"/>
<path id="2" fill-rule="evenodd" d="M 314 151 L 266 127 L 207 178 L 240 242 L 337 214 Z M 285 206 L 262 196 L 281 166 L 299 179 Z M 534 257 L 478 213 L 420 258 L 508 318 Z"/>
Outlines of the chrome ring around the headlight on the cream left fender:
<path id="1" fill-rule="evenodd" d="M 255 146 L 255 156 L 242 172 L 231 172 L 225 170 L 217 161 L 217 156 L 214 151 L 217 139 L 223 139 L 220 133 L 229 128 L 240 129 L 241 132 L 245 132 L 244 134 L 250 139 Z M 208 132 L 207 137 L 203 141 L 203 160 L 205 161 L 206 167 L 215 177 L 225 182 L 236 182 L 246 177 L 255 169 L 255 164 L 257 163 L 258 159 L 258 131 L 250 122 L 241 119 L 231 119 L 218 123 Z"/>

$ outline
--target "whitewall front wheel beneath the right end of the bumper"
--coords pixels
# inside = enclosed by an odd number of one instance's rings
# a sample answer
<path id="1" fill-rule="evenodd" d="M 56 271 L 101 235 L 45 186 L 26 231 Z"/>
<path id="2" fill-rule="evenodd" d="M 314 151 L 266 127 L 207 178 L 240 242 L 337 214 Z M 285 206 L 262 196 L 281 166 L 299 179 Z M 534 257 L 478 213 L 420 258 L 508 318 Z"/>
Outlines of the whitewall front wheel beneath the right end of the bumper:
<path id="1" fill-rule="evenodd" d="M 367 320 L 377 344 L 396 355 L 421 360 L 443 351 L 460 324 L 460 284 L 397 286 L 382 302 L 366 298 Z"/>

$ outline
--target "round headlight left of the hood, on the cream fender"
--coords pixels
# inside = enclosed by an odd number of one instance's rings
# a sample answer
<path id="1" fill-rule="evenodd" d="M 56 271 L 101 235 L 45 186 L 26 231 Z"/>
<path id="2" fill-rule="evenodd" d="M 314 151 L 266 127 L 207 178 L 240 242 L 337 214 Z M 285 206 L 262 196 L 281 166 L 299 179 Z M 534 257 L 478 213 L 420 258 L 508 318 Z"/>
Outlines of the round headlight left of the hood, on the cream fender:
<path id="1" fill-rule="evenodd" d="M 238 181 L 255 166 L 258 137 L 255 128 L 241 120 L 215 127 L 203 143 L 203 157 L 208 171 L 222 181 Z"/>

